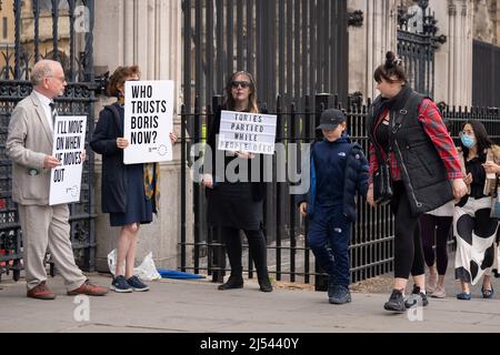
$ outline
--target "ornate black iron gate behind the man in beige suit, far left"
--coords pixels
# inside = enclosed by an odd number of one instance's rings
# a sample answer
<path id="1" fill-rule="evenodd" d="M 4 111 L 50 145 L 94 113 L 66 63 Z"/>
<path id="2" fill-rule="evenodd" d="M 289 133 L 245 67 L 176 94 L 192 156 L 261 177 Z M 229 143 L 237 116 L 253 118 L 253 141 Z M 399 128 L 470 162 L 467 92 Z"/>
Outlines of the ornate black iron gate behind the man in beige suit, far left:
<path id="1" fill-rule="evenodd" d="M 22 268 L 22 233 L 16 203 L 11 200 L 11 162 L 6 156 L 10 114 L 31 93 L 30 72 L 40 59 L 61 62 L 68 88 L 56 99 L 63 115 L 87 115 L 87 132 L 93 131 L 94 75 L 92 61 L 93 0 L 0 1 L 7 33 L 0 42 L 0 276 Z M 89 136 L 89 135 L 88 135 Z M 71 242 L 77 263 L 94 267 L 93 153 L 87 150 L 81 199 L 70 204 Z"/>

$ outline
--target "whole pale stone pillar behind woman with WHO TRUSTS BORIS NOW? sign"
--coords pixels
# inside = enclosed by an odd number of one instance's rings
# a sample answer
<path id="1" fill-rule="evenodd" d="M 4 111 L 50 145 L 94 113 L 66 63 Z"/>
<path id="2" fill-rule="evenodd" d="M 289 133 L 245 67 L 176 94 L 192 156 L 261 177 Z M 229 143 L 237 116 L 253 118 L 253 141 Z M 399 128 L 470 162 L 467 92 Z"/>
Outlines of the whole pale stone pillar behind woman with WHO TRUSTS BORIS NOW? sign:
<path id="1" fill-rule="evenodd" d="M 182 73 L 181 1 L 116 0 L 96 1 L 94 64 L 97 74 L 119 65 L 138 64 L 144 80 L 173 80 L 176 83 L 174 130 L 180 135 L 180 93 Z M 103 105 L 113 102 L 98 98 L 96 120 Z M 153 252 L 158 267 L 178 266 L 180 241 L 180 144 L 176 144 L 173 161 L 161 164 L 160 212 L 153 223 L 139 232 L 137 263 Z M 190 175 L 189 173 L 187 174 Z M 116 247 L 119 229 L 109 226 L 109 215 L 101 210 L 101 156 L 96 154 L 96 223 L 97 268 L 107 271 L 107 255 Z M 192 183 L 187 183 L 187 201 Z M 192 235 L 192 213 L 188 206 L 187 235 Z M 189 254 L 188 254 L 189 255 Z M 136 264 L 137 264 L 136 263 Z"/>

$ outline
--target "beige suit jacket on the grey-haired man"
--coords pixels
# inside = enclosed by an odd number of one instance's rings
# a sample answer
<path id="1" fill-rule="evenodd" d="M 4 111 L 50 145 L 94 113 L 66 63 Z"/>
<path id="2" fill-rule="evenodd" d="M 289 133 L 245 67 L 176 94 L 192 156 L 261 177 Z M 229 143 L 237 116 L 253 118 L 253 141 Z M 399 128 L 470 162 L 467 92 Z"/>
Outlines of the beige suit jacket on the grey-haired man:
<path id="1" fill-rule="evenodd" d="M 48 205 L 50 169 L 43 169 L 46 155 L 52 155 L 53 133 L 34 92 L 12 112 L 7 136 L 7 155 L 12 161 L 12 200 L 23 205 Z"/>

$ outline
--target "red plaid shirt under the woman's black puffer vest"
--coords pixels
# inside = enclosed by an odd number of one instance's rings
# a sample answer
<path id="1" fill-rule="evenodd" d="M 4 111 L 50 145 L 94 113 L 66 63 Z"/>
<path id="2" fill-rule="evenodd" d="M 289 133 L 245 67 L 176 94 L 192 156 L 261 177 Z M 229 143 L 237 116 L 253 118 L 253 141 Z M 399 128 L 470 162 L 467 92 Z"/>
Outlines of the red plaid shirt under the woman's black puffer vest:
<path id="1" fill-rule="evenodd" d="M 388 110 L 383 111 L 382 114 L 377 118 L 377 124 L 380 118 L 386 116 Z M 434 144 L 439 155 L 444 163 L 444 168 L 448 172 L 448 179 L 460 179 L 462 176 L 462 171 L 460 168 L 460 162 L 458 159 L 457 148 L 453 144 L 453 140 L 448 134 L 447 128 L 442 122 L 441 114 L 439 113 L 438 106 L 434 102 L 429 99 L 424 99 L 419 108 L 419 121 L 422 123 L 423 130 L 431 139 Z M 382 150 L 382 156 L 386 160 L 387 153 Z M 402 180 L 401 171 L 398 166 L 394 153 L 390 154 L 391 162 L 391 176 L 393 181 Z M 370 143 L 370 180 L 369 183 L 373 183 L 373 173 L 379 169 L 379 162 L 377 161 L 377 155 L 374 152 L 373 144 Z"/>

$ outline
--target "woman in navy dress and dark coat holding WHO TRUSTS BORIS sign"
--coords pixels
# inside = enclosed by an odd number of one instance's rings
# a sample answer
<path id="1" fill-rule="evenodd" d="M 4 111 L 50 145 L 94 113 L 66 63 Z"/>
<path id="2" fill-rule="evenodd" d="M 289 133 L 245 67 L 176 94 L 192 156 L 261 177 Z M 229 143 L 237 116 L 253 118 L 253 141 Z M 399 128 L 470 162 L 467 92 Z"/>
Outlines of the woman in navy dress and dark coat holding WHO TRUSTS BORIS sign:
<path id="1" fill-rule="evenodd" d="M 90 146 L 102 154 L 102 212 L 109 213 L 111 226 L 121 226 L 117 245 L 117 270 L 111 290 L 119 293 L 148 291 L 133 275 L 140 224 L 152 222 L 160 200 L 160 164 L 123 164 L 124 83 L 140 78 L 139 67 L 119 67 L 109 79 L 108 94 L 118 101 L 104 106 L 99 115 Z M 177 136 L 170 133 L 170 140 Z"/>

